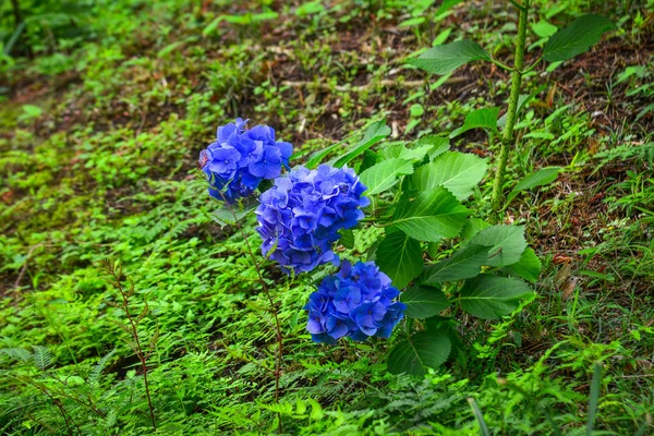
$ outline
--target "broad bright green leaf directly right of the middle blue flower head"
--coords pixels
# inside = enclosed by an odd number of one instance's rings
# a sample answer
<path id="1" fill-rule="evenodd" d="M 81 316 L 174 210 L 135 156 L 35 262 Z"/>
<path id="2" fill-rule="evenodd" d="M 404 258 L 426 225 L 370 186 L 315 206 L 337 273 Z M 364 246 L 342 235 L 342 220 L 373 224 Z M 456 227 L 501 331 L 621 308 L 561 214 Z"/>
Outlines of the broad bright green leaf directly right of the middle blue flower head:
<path id="1" fill-rule="evenodd" d="M 438 241 L 459 234 L 469 213 L 452 193 L 437 186 L 400 203 L 391 223 L 419 241 Z"/>

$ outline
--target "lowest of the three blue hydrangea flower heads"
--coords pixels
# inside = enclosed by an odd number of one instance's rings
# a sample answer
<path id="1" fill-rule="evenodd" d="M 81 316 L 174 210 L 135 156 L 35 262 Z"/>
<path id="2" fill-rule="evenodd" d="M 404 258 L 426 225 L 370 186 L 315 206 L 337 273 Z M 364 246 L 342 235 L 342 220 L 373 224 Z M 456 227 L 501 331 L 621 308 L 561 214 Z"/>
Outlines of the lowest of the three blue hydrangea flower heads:
<path id="1" fill-rule="evenodd" d="M 306 329 L 315 342 L 336 343 L 346 336 L 359 341 L 389 338 L 407 310 L 395 301 L 399 294 L 374 262 L 352 266 L 343 261 L 340 271 L 326 277 L 310 295 L 304 306 Z"/>

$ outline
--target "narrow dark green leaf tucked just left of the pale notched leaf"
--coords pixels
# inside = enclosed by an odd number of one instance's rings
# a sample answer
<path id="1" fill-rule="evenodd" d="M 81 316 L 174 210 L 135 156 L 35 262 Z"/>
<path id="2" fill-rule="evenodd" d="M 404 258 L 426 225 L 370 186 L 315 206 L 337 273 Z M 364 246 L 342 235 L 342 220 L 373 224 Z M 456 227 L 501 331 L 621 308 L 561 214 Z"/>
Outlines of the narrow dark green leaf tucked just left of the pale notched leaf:
<path id="1" fill-rule="evenodd" d="M 459 250 L 452 257 L 425 268 L 425 283 L 440 283 L 469 279 L 479 276 L 482 266 L 488 261 L 487 245 L 470 244 Z"/>

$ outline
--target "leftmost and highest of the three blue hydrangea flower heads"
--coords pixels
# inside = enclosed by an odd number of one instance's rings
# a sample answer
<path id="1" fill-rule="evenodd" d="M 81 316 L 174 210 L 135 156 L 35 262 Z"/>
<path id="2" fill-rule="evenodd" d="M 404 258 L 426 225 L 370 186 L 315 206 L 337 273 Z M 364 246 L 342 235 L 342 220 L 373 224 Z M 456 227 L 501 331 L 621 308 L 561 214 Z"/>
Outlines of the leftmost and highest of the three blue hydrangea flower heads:
<path id="1" fill-rule="evenodd" d="M 275 141 L 274 129 L 245 130 L 246 123 L 238 118 L 219 126 L 216 141 L 199 153 L 198 165 L 211 185 L 209 194 L 228 203 L 251 195 L 262 180 L 279 177 L 282 166 L 289 169 L 293 152 L 290 143 Z"/>

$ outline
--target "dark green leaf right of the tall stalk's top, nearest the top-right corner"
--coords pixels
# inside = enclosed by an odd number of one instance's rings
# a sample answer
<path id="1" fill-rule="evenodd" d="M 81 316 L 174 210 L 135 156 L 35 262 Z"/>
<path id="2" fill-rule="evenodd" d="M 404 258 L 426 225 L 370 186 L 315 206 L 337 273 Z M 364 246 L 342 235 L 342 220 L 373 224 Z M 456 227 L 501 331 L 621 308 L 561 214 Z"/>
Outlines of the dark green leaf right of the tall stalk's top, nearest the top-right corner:
<path id="1" fill-rule="evenodd" d="M 604 16 L 584 15 L 574 20 L 568 27 L 558 31 L 543 49 L 543 59 L 549 62 L 567 61 L 588 51 L 597 44 L 602 35 L 615 25 Z"/>

